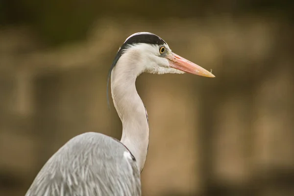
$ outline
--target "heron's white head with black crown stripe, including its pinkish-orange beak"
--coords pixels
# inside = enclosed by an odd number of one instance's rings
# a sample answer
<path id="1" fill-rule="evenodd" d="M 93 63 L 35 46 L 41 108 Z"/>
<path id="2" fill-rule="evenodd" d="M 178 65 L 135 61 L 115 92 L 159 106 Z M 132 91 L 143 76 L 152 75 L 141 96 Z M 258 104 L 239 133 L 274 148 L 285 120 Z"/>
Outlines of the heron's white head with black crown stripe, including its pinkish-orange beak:
<path id="1" fill-rule="evenodd" d="M 163 39 L 149 32 L 130 35 L 117 52 L 113 67 L 118 61 L 125 65 L 137 64 L 139 73 L 192 73 L 215 77 L 209 71 L 173 53 Z"/>

